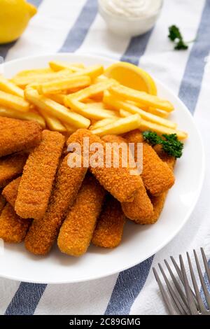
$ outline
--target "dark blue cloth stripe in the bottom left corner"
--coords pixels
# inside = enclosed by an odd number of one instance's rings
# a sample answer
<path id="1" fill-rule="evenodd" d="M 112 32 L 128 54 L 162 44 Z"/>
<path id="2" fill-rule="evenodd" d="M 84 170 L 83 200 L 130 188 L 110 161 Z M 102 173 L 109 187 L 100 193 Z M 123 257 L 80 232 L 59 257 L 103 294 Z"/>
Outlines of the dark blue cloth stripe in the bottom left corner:
<path id="1" fill-rule="evenodd" d="M 21 282 L 5 315 L 33 315 L 46 284 Z"/>

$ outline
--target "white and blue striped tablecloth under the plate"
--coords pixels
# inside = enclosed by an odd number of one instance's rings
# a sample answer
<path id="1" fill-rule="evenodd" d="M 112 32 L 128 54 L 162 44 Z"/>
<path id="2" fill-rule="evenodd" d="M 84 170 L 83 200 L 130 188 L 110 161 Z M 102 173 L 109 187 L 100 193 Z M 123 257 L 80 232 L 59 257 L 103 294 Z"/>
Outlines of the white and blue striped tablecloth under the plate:
<path id="1" fill-rule="evenodd" d="M 86 283 L 45 285 L 0 279 L 0 314 L 167 314 L 151 266 L 200 246 L 210 258 L 210 0 L 165 0 L 153 30 L 132 39 L 106 29 L 97 0 L 29 2 L 38 6 L 38 14 L 17 42 L 0 45 L 6 61 L 83 52 L 139 64 L 164 81 L 193 113 L 204 139 L 207 172 L 190 220 L 162 251 L 124 272 Z M 196 39 L 188 50 L 173 50 L 167 38 L 172 24 L 181 28 L 186 40 Z"/>

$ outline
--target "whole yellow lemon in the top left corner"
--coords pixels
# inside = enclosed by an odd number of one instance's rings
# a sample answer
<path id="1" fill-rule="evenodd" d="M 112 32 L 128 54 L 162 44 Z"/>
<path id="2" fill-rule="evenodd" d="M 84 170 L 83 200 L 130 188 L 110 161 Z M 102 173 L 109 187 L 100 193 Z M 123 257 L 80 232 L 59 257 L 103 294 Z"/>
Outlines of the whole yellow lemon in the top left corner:
<path id="1" fill-rule="evenodd" d="M 25 0 L 0 0 L 0 43 L 17 40 L 36 11 Z"/>

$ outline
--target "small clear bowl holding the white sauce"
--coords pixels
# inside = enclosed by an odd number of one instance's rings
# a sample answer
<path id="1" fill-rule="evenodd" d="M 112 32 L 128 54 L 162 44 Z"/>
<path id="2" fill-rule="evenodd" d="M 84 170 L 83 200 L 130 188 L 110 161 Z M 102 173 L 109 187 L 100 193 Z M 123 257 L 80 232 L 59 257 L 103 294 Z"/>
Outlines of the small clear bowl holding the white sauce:
<path id="1" fill-rule="evenodd" d="M 98 6 L 99 13 L 102 15 L 102 18 L 104 18 L 107 27 L 114 34 L 127 37 L 139 36 L 152 29 L 162 9 L 161 3 L 160 8 L 153 15 L 145 18 L 132 18 L 114 15 L 104 8 L 103 3 L 100 0 Z"/>

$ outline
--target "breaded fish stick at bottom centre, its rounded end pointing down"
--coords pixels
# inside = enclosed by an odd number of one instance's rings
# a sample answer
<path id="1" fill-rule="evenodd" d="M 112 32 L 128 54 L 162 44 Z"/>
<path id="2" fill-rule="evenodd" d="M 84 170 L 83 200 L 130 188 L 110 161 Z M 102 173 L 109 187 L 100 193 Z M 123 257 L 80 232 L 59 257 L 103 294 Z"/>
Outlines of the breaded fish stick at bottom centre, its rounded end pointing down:
<path id="1" fill-rule="evenodd" d="M 59 231 L 57 244 L 62 253 L 80 256 L 87 251 L 102 208 L 104 195 L 104 188 L 93 176 L 87 174 L 76 202 Z"/>

